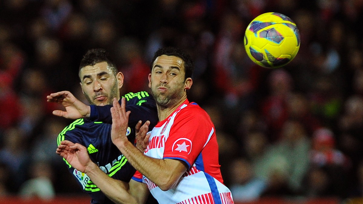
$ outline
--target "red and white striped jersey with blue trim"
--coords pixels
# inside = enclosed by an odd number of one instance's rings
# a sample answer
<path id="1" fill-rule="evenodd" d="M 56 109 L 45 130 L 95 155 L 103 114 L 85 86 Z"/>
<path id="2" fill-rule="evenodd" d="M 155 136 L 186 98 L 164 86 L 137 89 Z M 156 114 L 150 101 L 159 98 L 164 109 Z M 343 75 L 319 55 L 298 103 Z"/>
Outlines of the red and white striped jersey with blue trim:
<path id="1" fill-rule="evenodd" d="M 133 179 L 146 183 L 159 203 L 234 203 L 231 191 L 223 184 L 214 125 L 196 103 L 186 100 L 160 121 L 151 131 L 144 154 L 156 159 L 178 159 L 188 165 L 178 185 L 168 191 L 136 172 Z"/>

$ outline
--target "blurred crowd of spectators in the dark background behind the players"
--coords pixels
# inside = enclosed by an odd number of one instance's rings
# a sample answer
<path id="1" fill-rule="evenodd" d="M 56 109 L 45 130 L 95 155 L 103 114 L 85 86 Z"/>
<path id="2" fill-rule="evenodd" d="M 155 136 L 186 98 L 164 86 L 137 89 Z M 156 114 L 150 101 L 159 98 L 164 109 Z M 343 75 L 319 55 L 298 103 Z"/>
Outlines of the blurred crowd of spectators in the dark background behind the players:
<path id="1" fill-rule="evenodd" d="M 255 65 L 244 31 L 265 12 L 301 34 L 283 68 Z M 221 171 L 235 201 L 263 196 L 363 196 L 362 0 L 1 0 L 0 195 L 80 193 L 55 154 L 70 122 L 46 95 L 82 99 L 78 66 L 105 48 L 122 94 L 148 90 L 154 52 L 187 50 L 189 101 L 216 126 Z"/>

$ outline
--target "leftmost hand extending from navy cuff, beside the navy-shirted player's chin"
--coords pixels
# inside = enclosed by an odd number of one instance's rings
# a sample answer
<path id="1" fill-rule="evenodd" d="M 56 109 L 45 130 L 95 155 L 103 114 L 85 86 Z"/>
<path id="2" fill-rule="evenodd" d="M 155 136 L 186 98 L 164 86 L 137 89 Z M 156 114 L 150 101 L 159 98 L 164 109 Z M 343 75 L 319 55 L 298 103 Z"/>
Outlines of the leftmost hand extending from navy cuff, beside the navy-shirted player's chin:
<path id="1" fill-rule="evenodd" d="M 69 119 L 78 119 L 89 117 L 91 113 L 91 107 L 79 101 L 69 91 L 60 91 L 48 95 L 47 102 L 56 102 L 62 104 L 66 111 L 54 110 L 53 115 L 61 116 Z"/>

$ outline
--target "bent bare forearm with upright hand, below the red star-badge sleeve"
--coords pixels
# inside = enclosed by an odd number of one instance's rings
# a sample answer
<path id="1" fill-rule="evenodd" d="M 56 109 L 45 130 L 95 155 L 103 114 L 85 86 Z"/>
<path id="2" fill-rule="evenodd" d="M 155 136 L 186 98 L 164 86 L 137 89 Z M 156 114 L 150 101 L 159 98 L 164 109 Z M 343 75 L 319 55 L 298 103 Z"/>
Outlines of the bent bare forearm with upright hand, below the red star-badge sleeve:
<path id="1" fill-rule="evenodd" d="M 132 166 L 141 174 L 153 181 L 163 191 L 173 188 L 187 170 L 187 165 L 175 159 L 155 159 L 144 155 L 126 137 L 127 121 L 130 111 L 126 112 L 125 99 L 121 106 L 114 99 L 111 108 L 112 142 L 119 148 Z"/>

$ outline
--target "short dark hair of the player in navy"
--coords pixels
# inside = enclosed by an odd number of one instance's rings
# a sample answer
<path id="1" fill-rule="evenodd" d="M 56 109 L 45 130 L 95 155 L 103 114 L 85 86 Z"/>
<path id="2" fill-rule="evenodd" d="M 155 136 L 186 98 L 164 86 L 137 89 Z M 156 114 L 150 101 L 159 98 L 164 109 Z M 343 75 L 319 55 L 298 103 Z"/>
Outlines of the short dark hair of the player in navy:
<path id="1" fill-rule="evenodd" d="M 105 49 L 95 48 L 87 50 L 86 54 L 83 56 L 81 63 L 79 64 L 78 75 L 81 73 L 83 67 L 93 66 L 99 62 L 107 62 L 107 65 L 112 70 L 113 74 L 117 74 L 118 70 L 110 59 L 109 53 Z"/>

